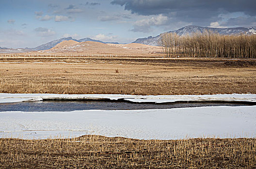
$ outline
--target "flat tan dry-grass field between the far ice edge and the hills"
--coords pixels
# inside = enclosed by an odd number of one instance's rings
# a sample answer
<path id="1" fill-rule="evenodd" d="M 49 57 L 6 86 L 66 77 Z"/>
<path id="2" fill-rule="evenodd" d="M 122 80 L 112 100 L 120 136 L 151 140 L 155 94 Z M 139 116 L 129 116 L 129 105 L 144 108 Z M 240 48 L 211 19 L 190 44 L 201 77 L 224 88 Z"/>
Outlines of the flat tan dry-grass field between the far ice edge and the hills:
<path id="1" fill-rule="evenodd" d="M 4 63 L 3 63 L 4 62 Z M 184 95 L 256 93 L 256 60 L 1 57 L 1 93 Z"/>

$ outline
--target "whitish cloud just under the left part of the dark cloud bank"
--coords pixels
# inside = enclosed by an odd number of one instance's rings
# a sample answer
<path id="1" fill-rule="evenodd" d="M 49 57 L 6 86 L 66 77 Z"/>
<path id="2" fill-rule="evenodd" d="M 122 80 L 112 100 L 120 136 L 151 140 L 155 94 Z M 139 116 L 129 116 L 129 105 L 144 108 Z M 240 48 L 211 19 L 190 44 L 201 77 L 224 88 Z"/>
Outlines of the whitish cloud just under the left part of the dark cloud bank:
<path id="1" fill-rule="evenodd" d="M 132 31 L 134 32 L 148 32 L 151 26 L 161 26 L 165 25 L 168 21 L 168 17 L 162 14 L 156 17 L 151 17 L 148 19 L 138 20 L 133 24 Z"/>

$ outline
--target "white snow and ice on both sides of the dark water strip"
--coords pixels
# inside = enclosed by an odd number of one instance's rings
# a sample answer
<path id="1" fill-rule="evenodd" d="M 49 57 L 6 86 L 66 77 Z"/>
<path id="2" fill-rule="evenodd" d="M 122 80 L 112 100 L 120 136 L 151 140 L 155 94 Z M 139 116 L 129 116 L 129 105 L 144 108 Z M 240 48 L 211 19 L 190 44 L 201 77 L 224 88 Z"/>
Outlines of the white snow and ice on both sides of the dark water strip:
<path id="1" fill-rule="evenodd" d="M 122 99 L 136 102 L 256 101 L 256 95 L 54 95 L 0 94 L 0 103 L 43 99 Z M 69 138 L 85 134 L 136 139 L 256 137 L 256 106 L 156 110 L 0 112 L 0 138 Z"/>

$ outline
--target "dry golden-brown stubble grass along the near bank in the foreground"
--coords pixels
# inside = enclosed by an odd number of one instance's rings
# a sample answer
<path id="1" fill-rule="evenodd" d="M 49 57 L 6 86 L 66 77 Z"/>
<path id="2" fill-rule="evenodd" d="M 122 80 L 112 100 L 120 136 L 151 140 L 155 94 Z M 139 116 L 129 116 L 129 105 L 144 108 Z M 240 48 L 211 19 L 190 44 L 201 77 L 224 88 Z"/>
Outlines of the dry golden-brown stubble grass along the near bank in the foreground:
<path id="1" fill-rule="evenodd" d="M 0 168 L 255 169 L 255 139 L 0 139 Z"/>

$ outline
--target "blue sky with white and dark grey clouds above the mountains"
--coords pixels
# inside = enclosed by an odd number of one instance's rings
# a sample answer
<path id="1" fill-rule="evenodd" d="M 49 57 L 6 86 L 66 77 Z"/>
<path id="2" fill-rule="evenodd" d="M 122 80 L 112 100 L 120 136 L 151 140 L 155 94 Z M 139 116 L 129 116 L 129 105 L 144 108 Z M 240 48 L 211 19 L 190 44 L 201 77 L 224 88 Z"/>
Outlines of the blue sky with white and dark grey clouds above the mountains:
<path id="1" fill-rule="evenodd" d="M 0 47 L 70 36 L 130 43 L 189 25 L 256 27 L 256 0 L 0 0 Z"/>

